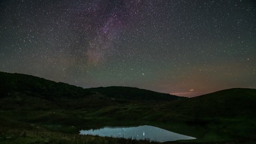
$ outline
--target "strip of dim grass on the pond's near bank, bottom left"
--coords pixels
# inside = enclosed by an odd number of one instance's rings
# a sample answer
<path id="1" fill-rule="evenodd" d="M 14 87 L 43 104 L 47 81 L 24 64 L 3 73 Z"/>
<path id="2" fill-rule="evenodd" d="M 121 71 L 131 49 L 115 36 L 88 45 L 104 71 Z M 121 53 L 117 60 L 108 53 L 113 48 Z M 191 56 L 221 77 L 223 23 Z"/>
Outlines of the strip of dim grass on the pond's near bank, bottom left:
<path id="1" fill-rule="evenodd" d="M 1 144 L 156 144 L 149 140 L 111 138 L 61 132 L 8 130 L 0 134 Z"/>

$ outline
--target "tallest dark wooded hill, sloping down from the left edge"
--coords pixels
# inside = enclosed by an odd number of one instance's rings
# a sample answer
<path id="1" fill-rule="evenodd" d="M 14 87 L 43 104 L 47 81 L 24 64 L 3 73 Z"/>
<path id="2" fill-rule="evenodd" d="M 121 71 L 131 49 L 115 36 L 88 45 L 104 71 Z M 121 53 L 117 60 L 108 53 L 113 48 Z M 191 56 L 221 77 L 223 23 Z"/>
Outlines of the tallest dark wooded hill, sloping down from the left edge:
<path id="1" fill-rule="evenodd" d="M 53 99 L 89 95 L 85 89 L 36 76 L 0 72 L 0 96 L 28 95 Z"/>

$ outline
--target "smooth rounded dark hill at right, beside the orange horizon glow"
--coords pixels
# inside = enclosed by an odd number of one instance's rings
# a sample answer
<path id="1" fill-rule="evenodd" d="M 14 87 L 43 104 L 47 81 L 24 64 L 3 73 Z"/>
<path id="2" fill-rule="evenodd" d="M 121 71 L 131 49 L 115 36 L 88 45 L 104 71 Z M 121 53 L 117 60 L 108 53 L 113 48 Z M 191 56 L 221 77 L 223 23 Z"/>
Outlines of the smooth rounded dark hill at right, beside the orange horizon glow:
<path id="1" fill-rule="evenodd" d="M 256 89 L 232 88 L 213 92 L 182 101 L 159 105 L 161 111 L 175 111 L 193 119 L 211 118 L 256 118 Z"/>

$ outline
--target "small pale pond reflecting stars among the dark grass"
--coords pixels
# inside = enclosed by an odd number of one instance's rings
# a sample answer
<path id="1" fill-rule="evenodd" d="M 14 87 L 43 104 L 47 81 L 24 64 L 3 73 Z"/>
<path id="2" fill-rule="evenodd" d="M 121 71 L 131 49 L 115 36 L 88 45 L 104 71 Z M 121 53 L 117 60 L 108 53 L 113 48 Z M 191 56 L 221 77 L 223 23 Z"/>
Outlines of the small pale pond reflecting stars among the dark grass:
<path id="1" fill-rule="evenodd" d="M 150 141 L 176 141 L 195 139 L 186 135 L 177 134 L 155 126 L 137 127 L 104 127 L 101 129 L 81 130 L 81 135 L 99 135 L 101 137 L 123 137 L 136 140 L 149 139 Z"/>

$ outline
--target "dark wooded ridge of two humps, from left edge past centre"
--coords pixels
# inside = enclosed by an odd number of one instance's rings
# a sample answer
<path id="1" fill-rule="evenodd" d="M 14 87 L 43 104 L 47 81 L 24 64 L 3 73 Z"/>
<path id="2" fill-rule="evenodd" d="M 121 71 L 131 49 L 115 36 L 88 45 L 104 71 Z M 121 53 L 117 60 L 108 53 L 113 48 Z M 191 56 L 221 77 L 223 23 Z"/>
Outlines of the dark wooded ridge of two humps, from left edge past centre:
<path id="1" fill-rule="evenodd" d="M 54 82 L 36 76 L 0 72 L 0 96 L 28 95 L 47 99 L 78 98 L 101 93 L 111 98 L 134 101 L 170 101 L 183 97 L 163 94 L 145 89 L 110 86 L 83 89 L 62 82 Z"/>

